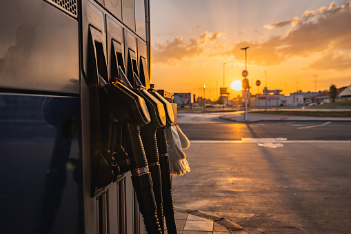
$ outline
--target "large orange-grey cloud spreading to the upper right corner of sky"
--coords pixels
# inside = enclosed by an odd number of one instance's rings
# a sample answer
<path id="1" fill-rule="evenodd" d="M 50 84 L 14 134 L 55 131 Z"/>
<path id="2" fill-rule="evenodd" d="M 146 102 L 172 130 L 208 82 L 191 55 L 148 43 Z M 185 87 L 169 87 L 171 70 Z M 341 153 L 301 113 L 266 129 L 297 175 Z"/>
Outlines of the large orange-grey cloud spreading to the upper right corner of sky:
<path id="1" fill-rule="evenodd" d="M 328 10 L 319 8 L 317 12 L 319 14 L 312 10 L 305 11 L 301 19 L 295 17 L 291 21 L 273 23 L 270 28 L 288 26 L 292 21 L 296 23 L 296 27 L 291 28 L 283 37 L 272 37 L 263 43 L 239 42 L 224 52 L 224 55 L 237 57 L 241 46 L 250 46 L 251 63 L 272 66 L 292 57 L 323 54 L 325 56 L 312 63 L 310 68 L 321 69 L 323 66 L 320 64 L 330 61 L 332 64 L 330 66 L 350 69 L 350 66 L 345 65 L 350 58 L 331 55 L 334 55 L 337 50 L 351 50 L 351 1 L 345 1 L 341 7 L 332 2 Z M 311 21 L 310 17 L 316 17 L 316 19 Z M 269 27 L 265 26 L 265 28 Z M 338 62 L 341 62 L 340 66 L 337 66 Z M 324 66 L 324 68 L 330 69 L 330 66 Z"/>

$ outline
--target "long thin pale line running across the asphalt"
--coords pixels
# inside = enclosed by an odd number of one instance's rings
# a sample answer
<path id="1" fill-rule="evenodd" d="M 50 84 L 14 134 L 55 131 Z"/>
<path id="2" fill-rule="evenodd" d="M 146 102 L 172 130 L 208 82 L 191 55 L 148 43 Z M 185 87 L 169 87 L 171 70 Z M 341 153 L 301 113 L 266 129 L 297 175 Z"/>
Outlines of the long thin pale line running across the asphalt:
<path id="1" fill-rule="evenodd" d="M 264 139 L 264 138 L 262 138 Z M 247 142 L 241 140 L 192 140 L 192 144 L 248 144 L 248 143 L 340 143 L 340 144 L 351 144 L 351 140 L 286 140 L 286 141 L 275 141 L 275 142 Z"/>

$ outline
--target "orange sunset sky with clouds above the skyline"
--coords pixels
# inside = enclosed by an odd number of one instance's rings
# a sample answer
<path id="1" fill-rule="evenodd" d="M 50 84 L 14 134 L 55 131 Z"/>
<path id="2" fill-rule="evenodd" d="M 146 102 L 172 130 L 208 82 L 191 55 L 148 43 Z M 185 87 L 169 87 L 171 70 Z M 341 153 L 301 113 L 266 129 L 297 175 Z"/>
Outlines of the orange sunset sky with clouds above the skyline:
<path id="1" fill-rule="evenodd" d="M 156 88 L 203 96 L 205 84 L 214 99 L 223 63 L 226 87 L 243 79 L 246 46 L 247 78 L 261 80 L 260 92 L 265 71 L 268 89 L 286 95 L 314 92 L 315 75 L 317 91 L 351 84 L 351 1 L 150 0 L 150 8 Z"/>

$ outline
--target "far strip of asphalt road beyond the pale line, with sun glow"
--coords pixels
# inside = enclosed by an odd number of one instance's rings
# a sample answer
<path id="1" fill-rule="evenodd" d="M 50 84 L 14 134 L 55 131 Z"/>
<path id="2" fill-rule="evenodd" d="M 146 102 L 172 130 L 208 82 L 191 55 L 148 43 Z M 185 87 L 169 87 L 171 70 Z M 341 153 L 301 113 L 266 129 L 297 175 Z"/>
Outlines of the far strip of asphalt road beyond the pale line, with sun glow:
<path id="1" fill-rule="evenodd" d="M 243 124 L 219 119 L 218 113 L 179 115 L 179 126 L 190 140 L 240 140 L 281 137 L 288 140 L 350 140 L 351 122 L 264 121 Z M 195 117 L 194 117 L 195 116 Z"/>

